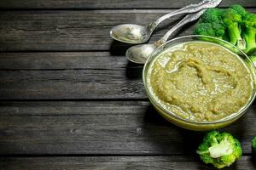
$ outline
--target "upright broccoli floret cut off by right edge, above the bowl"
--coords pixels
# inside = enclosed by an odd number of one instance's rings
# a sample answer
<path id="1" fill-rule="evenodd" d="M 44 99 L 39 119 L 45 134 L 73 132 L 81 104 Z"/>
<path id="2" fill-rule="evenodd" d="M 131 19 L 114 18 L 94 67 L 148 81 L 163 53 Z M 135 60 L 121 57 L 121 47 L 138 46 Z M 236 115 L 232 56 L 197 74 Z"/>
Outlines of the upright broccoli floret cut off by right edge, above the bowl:
<path id="1" fill-rule="evenodd" d="M 256 14 L 246 14 L 243 20 L 244 31 L 242 36 L 246 41 L 247 54 L 256 51 Z"/>

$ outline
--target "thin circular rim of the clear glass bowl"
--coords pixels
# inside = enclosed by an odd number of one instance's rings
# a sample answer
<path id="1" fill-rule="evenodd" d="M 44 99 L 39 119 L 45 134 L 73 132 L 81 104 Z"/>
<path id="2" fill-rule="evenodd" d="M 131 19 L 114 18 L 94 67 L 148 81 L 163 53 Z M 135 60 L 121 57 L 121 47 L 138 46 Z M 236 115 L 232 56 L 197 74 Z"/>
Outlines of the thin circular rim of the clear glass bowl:
<path id="1" fill-rule="evenodd" d="M 199 39 L 200 37 L 206 37 L 206 38 L 210 38 L 210 39 L 212 39 L 212 40 L 217 40 L 217 41 L 224 42 L 224 43 L 228 44 L 231 48 L 235 48 L 236 50 L 239 51 L 239 53 L 241 53 L 241 54 L 238 54 L 238 55 L 243 55 L 246 59 L 248 59 L 248 60 L 249 60 L 249 64 L 253 67 L 253 73 L 252 73 L 252 71 L 250 71 L 250 74 L 251 74 L 252 77 L 253 77 L 253 94 L 252 94 L 252 96 L 251 96 L 250 101 L 249 101 L 249 102 L 247 103 L 247 105 L 245 105 L 239 112 L 237 112 L 237 113 L 235 113 L 235 114 L 231 114 L 230 116 L 226 116 L 226 117 L 224 117 L 223 119 L 220 119 L 220 120 L 214 121 L 214 122 L 195 122 L 195 121 L 191 121 L 191 120 L 188 120 L 188 119 L 184 119 L 184 118 L 182 118 L 182 117 L 180 117 L 180 116 L 177 116 L 177 115 L 174 114 L 172 111 L 168 111 L 168 110 L 166 110 L 166 108 L 164 108 L 162 105 L 160 105 L 160 104 L 154 99 L 153 94 L 151 94 L 151 92 L 150 92 L 150 90 L 148 89 L 148 86 L 147 86 L 147 77 L 146 77 L 146 75 L 147 75 L 147 72 L 148 72 L 148 66 L 150 65 L 150 61 L 151 61 L 152 59 L 154 59 L 154 57 L 157 56 L 157 55 L 154 56 L 154 53 L 155 53 L 156 51 L 161 50 L 160 48 L 165 47 L 166 44 L 168 44 L 168 43 L 170 43 L 170 42 L 175 42 L 175 41 L 180 40 L 180 39 L 190 38 L 191 40 L 189 40 L 189 41 L 187 41 L 187 42 L 192 42 L 192 41 L 207 42 L 207 41 L 205 41 L 205 40 Z M 193 40 L 193 38 L 196 38 L 196 40 Z M 186 42 L 186 41 L 185 41 L 185 42 Z M 209 41 L 209 42 L 210 42 L 210 41 Z M 212 43 L 218 44 L 217 42 L 212 42 Z M 176 44 L 178 44 L 178 42 L 177 42 Z M 175 45 L 175 43 L 174 43 L 173 45 Z M 172 47 L 173 45 L 169 46 L 168 48 Z M 218 45 L 224 47 L 224 46 L 221 45 L 221 44 L 218 44 Z M 224 47 L 224 48 L 226 48 L 226 47 Z M 229 48 L 227 48 L 227 49 L 230 50 Z M 162 50 L 162 51 L 163 51 L 163 50 Z M 162 51 L 161 51 L 161 52 L 162 52 Z M 230 51 L 232 52 L 232 50 L 230 50 Z M 161 53 L 161 52 L 160 52 L 160 53 Z M 242 60 L 244 60 L 244 59 L 242 59 Z M 250 68 L 248 68 L 248 69 L 250 69 Z M 250 69 L 250 70 L 251 70 L 251 69 Z M 144 87 L 146 88 L 146 92 L 147 92 L 147 95 L 148 95 L 148 99 L 149 99 L 151 102 L 153 102 L 154 105 L 156 105 L 157 107 L 159 107 L 160 110 L 165 111 L 165 113 L 168 114 L 169 116 L 174 116 L 175 118 L 177 118 L 178 120 L 180 120 L 180 121 L 182 121 L 182 122 L 196 123 L 196 124 L 201 124 L 201 125 L 218 124 L 218 123 L 223 123 L 223 122 L 229 122 L 229 121 L 235 119 L 236 117 L 242 116 L 242 115 L 245 113 L 245 111 L 247 111 L 248 107 L 249 107 L 250 105 L 252 105 L 253 100 L 255 99 L 255 77 L 256 77 L 255 75 L 256 75 L 256 70 L 255 70 L 255 66 L 253 65 L 253 61 L 247 56 L 247 54 L 245 54 L 243 51 L 241 51 L 240 48 L 237 48 L 235 45 L 231 44 L 230 42 L 226 42 L 226 41 L 224 41 L 224 40 L 222 40 L 222 39 L 219 39 L 219 38 L 217 38 L 217 37 L 209 37 L 209 36 L 201 36 L 201 35 L 188 35 L 188 36 L 183 36 L 183 37 L 176 37 L 176 38 L 173 38 L 172 40 L 169 40 L 169 41 L 163 43 L 162 45 L 160 45 L 160 47 L 156 48 L 152 54 L 149 55 L 149 57 L 148 57 L 146 63 L 145 63 L 144 66 L 143 66 L 143 84 L 144 84 Z"/>

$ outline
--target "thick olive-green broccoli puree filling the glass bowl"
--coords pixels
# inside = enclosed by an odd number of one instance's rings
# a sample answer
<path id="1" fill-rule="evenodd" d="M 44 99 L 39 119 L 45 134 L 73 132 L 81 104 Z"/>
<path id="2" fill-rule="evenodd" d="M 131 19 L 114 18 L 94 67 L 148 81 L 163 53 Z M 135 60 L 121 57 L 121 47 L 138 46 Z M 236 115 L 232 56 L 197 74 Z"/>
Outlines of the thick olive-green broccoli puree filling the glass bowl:
<path id="1" fill-rule="evenodd" d="M 184 42 L 149 65 L 148 88 L 161 106 L 196 122 L 240 111 L 253 94 L 253 77 L 237 56 L 211 42 Z"/>

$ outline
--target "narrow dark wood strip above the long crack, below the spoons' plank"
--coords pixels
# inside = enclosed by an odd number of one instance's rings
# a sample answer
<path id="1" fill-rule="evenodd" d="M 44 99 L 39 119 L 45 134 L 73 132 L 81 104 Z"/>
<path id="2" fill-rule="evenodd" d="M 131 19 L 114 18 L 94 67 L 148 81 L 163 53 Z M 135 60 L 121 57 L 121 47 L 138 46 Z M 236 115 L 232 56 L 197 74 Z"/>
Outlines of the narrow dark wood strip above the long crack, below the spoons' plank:
<path id="1" fill-rule="evenodd" d="M 109 52 L 1 53 L 1 70 L 124 70 L 131 65 L 125 56 Z"/>

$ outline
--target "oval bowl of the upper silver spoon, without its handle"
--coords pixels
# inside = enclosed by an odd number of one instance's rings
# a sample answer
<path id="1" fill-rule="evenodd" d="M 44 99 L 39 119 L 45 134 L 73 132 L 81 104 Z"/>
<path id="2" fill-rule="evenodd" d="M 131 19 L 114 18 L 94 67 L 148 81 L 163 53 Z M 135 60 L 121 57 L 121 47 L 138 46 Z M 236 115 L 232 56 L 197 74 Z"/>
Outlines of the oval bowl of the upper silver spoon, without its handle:
<path id="1" fill-rule="evenodd" d="M 119 42 L 137 44 L 147 42 L 151 33 L 148 26 L 123 24 L 114 26 L 110 31 L 110 36 Z"/>

